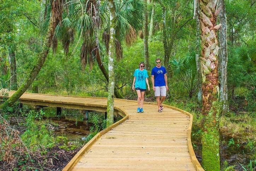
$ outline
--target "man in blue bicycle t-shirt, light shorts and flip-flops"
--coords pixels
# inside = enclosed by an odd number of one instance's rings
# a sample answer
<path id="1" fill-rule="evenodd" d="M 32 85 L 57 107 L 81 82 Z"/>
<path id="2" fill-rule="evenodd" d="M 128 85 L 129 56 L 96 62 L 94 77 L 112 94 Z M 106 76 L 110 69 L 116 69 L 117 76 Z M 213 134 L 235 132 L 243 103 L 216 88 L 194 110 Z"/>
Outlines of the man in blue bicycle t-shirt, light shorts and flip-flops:
<path id="1" fill-rule="evenodd" d="M 162 112 L 163 110 L 163 101 L 166 97 L 166 90 L 168 90 L 167 86 L 167 76 L 166 70 L 164 66 L 161 66 L 161 59 L 156 59 L 156 66 L 153 67 L 151 71 L 151 81 L 153 85 L 153 90 L 155 91 L 158 112 Z M 160 100 L 161 96 L 161 100 Z"/>

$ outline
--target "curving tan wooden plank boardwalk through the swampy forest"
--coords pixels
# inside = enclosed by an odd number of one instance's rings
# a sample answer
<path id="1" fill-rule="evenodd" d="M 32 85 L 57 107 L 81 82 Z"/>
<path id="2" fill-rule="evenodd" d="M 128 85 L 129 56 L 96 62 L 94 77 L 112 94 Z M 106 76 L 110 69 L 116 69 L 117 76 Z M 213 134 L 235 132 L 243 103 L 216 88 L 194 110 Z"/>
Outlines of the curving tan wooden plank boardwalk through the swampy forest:
<path id="1" fill-rule="evenodd" d="M 1 92 L 1 90 L 0 90 Z M 13 91 L 9 92 L 9 96 Z M 24 93 L 21 103 L 106 111 L 106 98 Z M 203 170 L 191 145 L 192 115 L 164 105 L 115 99 L 115 114 L 123 119 L 93 137 L 65 170 Z"/>

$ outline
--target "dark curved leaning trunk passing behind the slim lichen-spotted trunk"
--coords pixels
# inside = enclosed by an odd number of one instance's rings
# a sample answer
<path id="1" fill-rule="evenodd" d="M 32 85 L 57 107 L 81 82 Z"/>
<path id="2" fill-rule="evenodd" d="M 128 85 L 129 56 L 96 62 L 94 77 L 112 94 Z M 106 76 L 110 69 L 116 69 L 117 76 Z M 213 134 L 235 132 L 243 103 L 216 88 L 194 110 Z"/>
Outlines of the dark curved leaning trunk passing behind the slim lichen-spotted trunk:
<path id="1" fill-rule="evenodd" d="M 100 53 L 99 53 L 99 47 L 96 47 L 93 52 L 96 56 L 96 61 L 98 63 L 98 66 L 100 68 L 100 71 L 103 73 L 104 77 L 106 78 L 107 82 L 109 83 L 109 73 L 107 72 L 105 66 L 103 65 Z M 123 96 L 118 92 L 117 87 L 115 86 L 115 96 L 117 99 L 123 99 Z"/>

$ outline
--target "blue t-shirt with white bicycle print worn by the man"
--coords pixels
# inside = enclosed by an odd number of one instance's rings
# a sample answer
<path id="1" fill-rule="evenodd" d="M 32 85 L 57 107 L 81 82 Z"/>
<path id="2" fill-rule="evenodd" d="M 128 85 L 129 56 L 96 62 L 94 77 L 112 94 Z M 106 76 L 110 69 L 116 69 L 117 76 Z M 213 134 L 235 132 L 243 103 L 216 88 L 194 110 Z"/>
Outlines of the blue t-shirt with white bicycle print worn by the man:
<path id="1" fill-rule="evenodd" d="M 154 76 L 154 83 L 155 87 L 160 87 L 160 86 L 165 86 L 165 81 L 164 81 L 164 74 L 166 73 L 165 67 L 161 66 L 160 68 L 158 67 L 153 67 L 151 71 L 151 75 Z"/>

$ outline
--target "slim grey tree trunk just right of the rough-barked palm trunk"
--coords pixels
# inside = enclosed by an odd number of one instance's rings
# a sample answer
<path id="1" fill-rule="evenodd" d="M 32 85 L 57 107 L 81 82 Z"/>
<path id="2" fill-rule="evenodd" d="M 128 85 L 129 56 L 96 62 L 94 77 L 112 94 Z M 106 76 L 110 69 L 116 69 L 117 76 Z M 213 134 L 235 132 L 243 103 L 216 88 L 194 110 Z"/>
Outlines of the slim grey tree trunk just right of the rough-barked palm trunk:
<path id="1" fill-rule="evenodd" d="M 218 70 L 219 70 L 219 81 L 220 81 L 220 101 L 223 104 L 222 114 L 228 112 L 228 89 L 227 89 L 227 18 L 226 18 L 226 8 L 224 0 L 219 0 L 217 9 L 220 8 L 219 12 L 219 23 L 221 28 L 219 30 L 218 40 L 220 43 L 220 51 L 218 55 Z"/>

